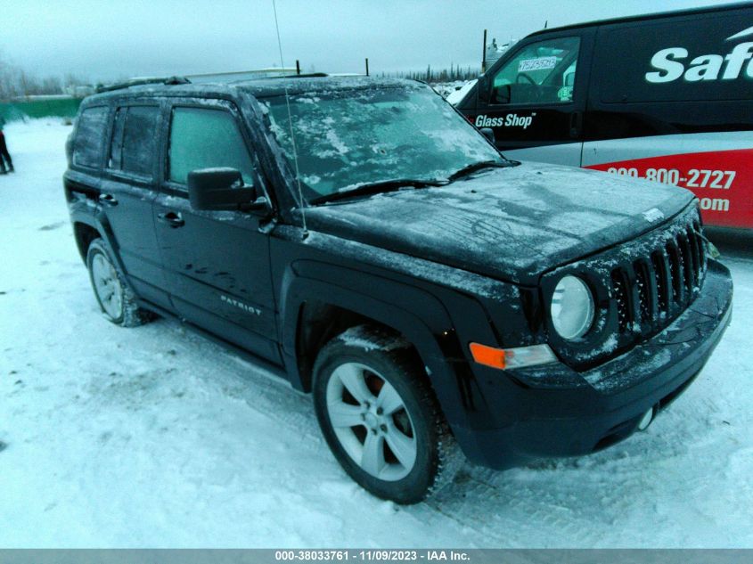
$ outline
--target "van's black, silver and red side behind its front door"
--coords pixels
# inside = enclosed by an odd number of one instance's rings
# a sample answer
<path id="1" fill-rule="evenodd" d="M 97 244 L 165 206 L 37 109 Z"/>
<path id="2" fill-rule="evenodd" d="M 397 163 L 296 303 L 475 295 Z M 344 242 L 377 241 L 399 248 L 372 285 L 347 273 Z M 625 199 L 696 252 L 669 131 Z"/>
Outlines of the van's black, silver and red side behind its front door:
<path id="1" fill-rule="evenodd" d="M 687 188 L 753 227 L 753 7 L 602 26 L 583 166 Z"/>

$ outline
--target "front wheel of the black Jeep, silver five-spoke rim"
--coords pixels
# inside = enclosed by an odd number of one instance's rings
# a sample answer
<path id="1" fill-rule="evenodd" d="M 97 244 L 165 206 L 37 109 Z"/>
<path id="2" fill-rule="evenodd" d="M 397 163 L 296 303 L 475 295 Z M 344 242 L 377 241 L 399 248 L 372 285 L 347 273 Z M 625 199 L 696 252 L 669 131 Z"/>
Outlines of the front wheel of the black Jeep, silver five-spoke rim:
<path id="1" fill-rule="evenodd" d="M 366 490 L 397 503 L 421 502 L 463 461 L 411 352 L 361 325 L 323 347 L 314 367 L 316 417 L 335 458 Z"/>

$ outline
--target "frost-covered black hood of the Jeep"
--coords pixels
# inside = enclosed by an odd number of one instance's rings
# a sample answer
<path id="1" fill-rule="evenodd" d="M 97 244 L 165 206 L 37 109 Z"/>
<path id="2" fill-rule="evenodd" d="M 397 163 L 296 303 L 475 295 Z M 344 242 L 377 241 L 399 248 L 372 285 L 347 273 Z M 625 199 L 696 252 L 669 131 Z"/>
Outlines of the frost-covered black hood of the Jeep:
<path id="1" fill-rule="evenodd" d="M 552 267 L 656 228 L 692 198 L 674 186 L 526 163 L 308 208 L 307 220 L 315 231 L 532 284 Z"/>

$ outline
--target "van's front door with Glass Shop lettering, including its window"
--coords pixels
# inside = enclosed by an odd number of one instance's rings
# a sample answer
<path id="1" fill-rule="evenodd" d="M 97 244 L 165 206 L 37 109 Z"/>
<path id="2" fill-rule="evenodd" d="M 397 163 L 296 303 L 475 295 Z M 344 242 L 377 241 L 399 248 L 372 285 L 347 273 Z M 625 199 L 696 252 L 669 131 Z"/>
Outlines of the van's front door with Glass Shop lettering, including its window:
<path id="1" fill-rule="evenodd" d="M 580 166 L 590 29 L 531 37 L 479 81 L 476 127 L 511 159 Z"/>

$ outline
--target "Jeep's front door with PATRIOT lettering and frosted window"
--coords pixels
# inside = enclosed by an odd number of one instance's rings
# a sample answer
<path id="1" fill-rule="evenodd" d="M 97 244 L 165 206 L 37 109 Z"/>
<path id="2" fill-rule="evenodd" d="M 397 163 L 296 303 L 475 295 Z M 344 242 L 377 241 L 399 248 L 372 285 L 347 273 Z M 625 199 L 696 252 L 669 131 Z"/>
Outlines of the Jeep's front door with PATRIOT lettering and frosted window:
<path id="1" fill-rule="evenodd" d="M 250 212 L 196 211 L 188 173 L 230 167 L 264 188 L 241 115 L 231 102 L 172 102 L 166 169 L 155 221 L 173 305 L 179 315 L 273 362 L 276 346 L 269 236 Z"/>

